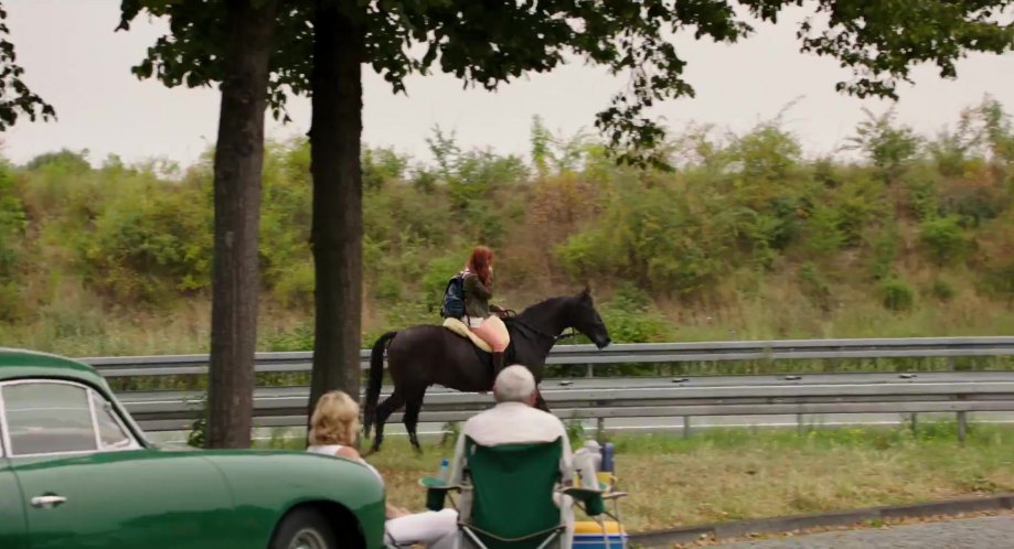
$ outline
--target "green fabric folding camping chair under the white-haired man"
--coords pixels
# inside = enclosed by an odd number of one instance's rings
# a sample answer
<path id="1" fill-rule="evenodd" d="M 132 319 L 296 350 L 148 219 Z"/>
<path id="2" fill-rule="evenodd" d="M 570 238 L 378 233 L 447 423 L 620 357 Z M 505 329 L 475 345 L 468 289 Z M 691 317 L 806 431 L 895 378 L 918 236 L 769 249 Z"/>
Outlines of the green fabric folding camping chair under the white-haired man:
<path id="1" fill-rule="evenodd" d="M 601 489 L 574 487 L 561 473 L 563 439 L 484 446 L 466 437 L 465 455 L 463 485 L 423 482 L 433 510 L 448 492 L 460 494 L 459 549 L 567 549 L 567 509 L 556 499 L 569 496 L 590 517 L 605 512 Z"/>

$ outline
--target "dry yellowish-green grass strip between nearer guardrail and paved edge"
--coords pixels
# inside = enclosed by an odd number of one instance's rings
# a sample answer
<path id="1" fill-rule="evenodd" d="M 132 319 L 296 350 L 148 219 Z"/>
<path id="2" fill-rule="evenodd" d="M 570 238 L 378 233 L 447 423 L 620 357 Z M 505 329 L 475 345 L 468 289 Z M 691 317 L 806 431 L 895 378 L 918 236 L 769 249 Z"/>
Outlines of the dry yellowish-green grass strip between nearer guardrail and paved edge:
<path id="1" fill-rule="evenodd" d="M 1005 427 L 971 426 L 963 445 L 952 422 L 915 432 L 714 429 L 612 442 L 618 489 L 630 493 L 620 507 L 628 531 L 1014 491 L 1014 429 Z M 434 474 L 452 444 L 424 449 L 417 456 L 407 440 L 388 438 L 370 458 L 395 505 L 424 509 L 416 481 Z"/>

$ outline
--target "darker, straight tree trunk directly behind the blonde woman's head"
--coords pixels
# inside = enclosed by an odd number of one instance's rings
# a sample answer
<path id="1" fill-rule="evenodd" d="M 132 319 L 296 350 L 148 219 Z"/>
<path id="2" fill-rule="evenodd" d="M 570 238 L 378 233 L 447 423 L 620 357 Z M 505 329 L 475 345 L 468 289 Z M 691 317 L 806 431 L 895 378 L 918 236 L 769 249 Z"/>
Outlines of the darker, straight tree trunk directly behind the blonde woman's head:
<path id="1" fill-rule="evenodd" d="M 335 3 L 318 0 L 313 15 L 310 172 L 317 293 L 311 413 L 329 390 L 360 397 L 363 29 Z"/>

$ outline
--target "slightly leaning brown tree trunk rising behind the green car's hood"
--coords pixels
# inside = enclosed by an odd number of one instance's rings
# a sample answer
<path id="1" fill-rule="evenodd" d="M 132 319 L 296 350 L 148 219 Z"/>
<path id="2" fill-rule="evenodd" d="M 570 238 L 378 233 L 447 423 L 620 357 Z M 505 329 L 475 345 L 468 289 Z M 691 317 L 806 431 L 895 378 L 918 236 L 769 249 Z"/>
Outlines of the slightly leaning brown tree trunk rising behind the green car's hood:
<path id="1" fill-rule="evenodd" d="M 215 147 L 207 448 L 249 448 L 257 344 L 257 230 L 275 1 L 228 2 Z"/>

